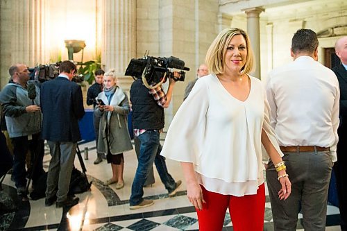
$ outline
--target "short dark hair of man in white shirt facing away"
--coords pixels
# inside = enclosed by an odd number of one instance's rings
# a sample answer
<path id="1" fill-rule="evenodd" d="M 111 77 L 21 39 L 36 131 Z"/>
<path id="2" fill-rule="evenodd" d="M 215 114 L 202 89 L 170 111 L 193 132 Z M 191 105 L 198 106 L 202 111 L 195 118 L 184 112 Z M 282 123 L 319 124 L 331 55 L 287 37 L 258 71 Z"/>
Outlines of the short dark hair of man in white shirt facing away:
<path id="1" fill-rule="evenodd" d="M 291 39 L 291 51 L 293 53 L 314 53 L 318 47 L 318 38 L 310 29 L 299 29 Z"/>

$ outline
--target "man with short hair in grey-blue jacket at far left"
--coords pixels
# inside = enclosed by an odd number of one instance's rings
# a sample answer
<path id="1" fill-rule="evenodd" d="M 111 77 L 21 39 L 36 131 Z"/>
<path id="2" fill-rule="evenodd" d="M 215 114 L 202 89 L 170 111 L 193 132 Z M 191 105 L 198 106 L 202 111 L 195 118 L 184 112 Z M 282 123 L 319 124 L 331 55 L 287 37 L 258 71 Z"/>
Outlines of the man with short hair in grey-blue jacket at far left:
<path id="1" fill-rule="evenodd" d="M 40 138 L 42 114 L 40 109 L 40 89 L 28 83 L 29 71 L 24 64 L 13 65 L 9 69 L 12 82 L 0 94 L 0 103 L 5 114 L 8 135 L 13 145 L 13 173 L 17 194 L 27 200 L 25 160 L 31 151 L 31 178 L 36 180 L 44 172 L 42 160 L 44 141 Z M 32 89 L 29 92 L 29 85 Z M 34 161 L 35 160 L 35 164 Z"/>

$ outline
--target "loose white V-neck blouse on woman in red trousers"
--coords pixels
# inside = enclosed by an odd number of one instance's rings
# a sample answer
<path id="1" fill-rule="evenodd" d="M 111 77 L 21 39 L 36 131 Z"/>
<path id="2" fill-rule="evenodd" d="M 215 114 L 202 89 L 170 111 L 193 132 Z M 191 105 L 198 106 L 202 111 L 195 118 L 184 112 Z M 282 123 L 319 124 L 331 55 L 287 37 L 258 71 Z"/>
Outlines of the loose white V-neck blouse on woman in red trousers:
<path id="1" fill-rule="evenodd" d="M 216 75 L 199 78 L 178 109 L 160 153 L 192 162 L 199 184 L 224 195 L 257 194 L 264 182 L 262 128 L 282 156 L 269 123 L 262 82 L 251 77 L 246 101 L 235 99 Z M 264 157 L 268 159 L 267 153 Z"/>

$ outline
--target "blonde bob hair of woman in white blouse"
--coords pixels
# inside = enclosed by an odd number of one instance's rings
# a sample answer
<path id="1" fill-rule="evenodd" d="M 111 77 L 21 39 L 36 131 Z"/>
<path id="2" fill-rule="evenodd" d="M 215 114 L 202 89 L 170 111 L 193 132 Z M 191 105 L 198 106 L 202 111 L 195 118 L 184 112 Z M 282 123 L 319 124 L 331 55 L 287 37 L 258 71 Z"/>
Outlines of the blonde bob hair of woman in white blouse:
<path id="1" fill-rule="evenodd" d="M 255 67 L 255 60 L 248 35 L 239 28 L 226 28 L 221 31 L 219 35 L 217 35 L 206 53 L 205 62 L 208 65 L 208 69 L 212 71 L 212 73 L 224 73 L 226 64 L 224 60 L 226 57 L 226 49 L 228 48 L 230 40 L 235 35 L 242 35 L 244 40 L 246 40 L 247 57 L 245 65 L 242 67 L 241 71 L 244 74 L 248 74 L 253 71 L 253 67 Z"/>

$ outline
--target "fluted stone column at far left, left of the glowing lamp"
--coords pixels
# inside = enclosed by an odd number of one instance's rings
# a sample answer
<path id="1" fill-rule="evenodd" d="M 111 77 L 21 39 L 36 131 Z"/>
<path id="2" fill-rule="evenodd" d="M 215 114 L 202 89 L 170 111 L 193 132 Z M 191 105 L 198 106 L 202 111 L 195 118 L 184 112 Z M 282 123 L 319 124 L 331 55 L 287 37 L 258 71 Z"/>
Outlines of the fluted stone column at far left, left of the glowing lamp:
<path id="1" fill-rule="evenodd" d="M 29 67 L 49 61 L 45 40 L 45 1 L 12 1 L 12 64 L 23 62 Z"/>

